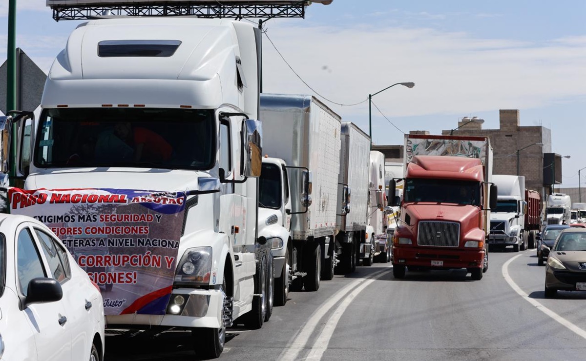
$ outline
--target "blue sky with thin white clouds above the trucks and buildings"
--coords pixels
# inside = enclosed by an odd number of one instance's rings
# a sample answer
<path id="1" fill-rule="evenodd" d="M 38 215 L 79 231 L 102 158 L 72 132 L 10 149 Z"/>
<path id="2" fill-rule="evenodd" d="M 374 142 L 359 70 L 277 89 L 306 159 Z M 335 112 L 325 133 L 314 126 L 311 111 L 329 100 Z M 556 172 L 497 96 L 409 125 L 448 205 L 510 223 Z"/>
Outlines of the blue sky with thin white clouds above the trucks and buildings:
<path id="1" fill-rule="evenodd" d="M 48 73 L 80 21 L 56 22 L 45 0 L 17 4 L 16 46 Z M 0 29 L 7 16 L 5 0 Z M 402 144 L 410 130 L 440 134 L 464 116 L 498 129 L 499 109 L 519 109 L 520 125 L 551 129 L 551 151 L 570 156 L 562 186 L 578 185 L 586 167 L 584 0 L 333 0 L 308 6 L 305 19 L 268 20 L 264 30 L 264 92 L 313 94 L 368 133 L 368 95 L 414 82 L 373 96 L 379 145 Z M 581 178 L 586 186 L 586 169 Z"/>

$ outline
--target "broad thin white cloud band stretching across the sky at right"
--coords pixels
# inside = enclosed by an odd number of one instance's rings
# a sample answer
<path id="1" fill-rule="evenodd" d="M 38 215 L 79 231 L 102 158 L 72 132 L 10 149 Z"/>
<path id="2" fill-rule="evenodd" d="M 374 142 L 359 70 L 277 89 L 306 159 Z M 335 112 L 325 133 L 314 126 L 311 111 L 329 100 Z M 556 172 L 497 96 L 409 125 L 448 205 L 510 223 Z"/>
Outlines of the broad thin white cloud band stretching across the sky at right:
<path id="1" fill-rule="evenodd" d="M 287 25 L 272 27 L 268 36 L 306 82 L 336 102 L 415 82 L 413 89 L 376 96 L 387 116 L 533 108 L 586 95 L 579 81 L 586 78 L 586 49 L 573 46 L 580 37 L 527 43 L 432 29 Z M 263 51 L 264 91 L 311 92 L 266 39 Z M 323 71 L 323 64 L 335 71 Z M 343 112 L 364 115 L 367 104 Z"/>

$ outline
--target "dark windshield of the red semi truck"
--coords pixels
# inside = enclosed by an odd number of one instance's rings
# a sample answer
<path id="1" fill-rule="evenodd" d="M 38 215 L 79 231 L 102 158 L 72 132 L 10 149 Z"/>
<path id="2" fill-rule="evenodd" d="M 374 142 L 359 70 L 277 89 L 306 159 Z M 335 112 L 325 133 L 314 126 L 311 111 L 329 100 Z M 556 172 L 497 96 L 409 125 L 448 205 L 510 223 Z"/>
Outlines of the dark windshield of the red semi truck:
<path id="1" fill-rule="evenodd" d="M 480 184 L 473 181 L 409 178 L 404 192 L 406 202 L 480 205 Z"/>

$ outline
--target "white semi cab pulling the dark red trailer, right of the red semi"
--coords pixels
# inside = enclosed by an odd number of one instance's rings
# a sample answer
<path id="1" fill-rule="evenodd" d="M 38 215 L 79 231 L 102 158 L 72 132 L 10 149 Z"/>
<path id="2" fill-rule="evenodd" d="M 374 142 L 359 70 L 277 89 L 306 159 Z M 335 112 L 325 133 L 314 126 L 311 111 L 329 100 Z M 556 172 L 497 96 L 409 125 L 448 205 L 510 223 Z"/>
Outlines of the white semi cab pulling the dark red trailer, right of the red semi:
<path id="1" fill-rule="evenodd" d="M 498 187 L 496 209 L 490 212 L 489 245 L 513 246 L 515 252 L 527 249 L 525 231 L 525 177 L 493 174 Z"/>

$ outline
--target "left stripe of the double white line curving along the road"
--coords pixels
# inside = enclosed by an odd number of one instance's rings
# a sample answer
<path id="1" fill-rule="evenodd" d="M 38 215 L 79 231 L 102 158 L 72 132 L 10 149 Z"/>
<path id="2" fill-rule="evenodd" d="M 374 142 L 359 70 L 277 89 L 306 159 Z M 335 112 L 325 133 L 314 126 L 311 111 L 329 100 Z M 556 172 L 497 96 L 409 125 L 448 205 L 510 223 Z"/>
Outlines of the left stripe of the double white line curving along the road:
<path id="1" fill-rule="evenodd" d="M 299 330 L 295 338 L 287 347 L 287 349 L 281 352 L 281 355 L 278 357 L 279 360 L 283 361 L 294 361 L 297 360 L 299 356 L 299 352 L 305 348 L 305 345 L 309 341 L 309 337 L 315 331 L 315 328 L 318 326 L 319 321 L 322 317 L 336 304 L 340 301 L 346 294 L 350 293 L 353 288 L 359 286 L 361 283 L 365 283 L 372 279 L 375 276 L 379 276 L 379 274 L 387 272 L 393 269 L 389 267 L 388 269 L 384 269 L 381 271 L 377 271 L 376 273 L 371 274 L 368 278 L 365 279 L 357 279 L 352 281 L 351 283 L 347 284 L 346 287 L 339 290 L 337 293 L 333 294 L 332 297 L 328 299 L 325 304 L 321 305 L 315 312 L 309 317 L 309 321 L 305 323 L 305 325 Z"/>

